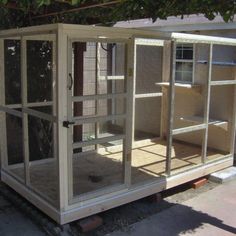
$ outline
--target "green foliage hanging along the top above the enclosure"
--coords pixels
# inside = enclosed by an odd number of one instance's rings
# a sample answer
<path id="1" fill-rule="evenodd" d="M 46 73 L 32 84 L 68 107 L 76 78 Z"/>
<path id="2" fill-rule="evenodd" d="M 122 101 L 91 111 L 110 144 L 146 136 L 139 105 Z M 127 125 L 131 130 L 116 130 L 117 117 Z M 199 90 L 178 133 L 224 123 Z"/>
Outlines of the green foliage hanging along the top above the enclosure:
<path id="1" fill-rule="evenodd" d="M 232 21 L 236 13 L 236 0 L 120 0 L 118 3 L 61 13 L 80 6 L 111 2 L 113 0 L 0 0 L 10 8 L 0 8 L 0 29 L 55 22 L 75 24 L 108 24 L 119 20 L 152 18 L 153 21 L 201 13 L 209 20 L 221 15 L 225 22 Z M 12 7 L 13 6 L 13 7 Z M 17 9 L 14 9 L 17 8 Z M 20 9 L 19 9 L 20 8 Z M 44 14 L 57 12 L 55 15 Z M 38 18 L 38 16 L 43 17 Z"/>

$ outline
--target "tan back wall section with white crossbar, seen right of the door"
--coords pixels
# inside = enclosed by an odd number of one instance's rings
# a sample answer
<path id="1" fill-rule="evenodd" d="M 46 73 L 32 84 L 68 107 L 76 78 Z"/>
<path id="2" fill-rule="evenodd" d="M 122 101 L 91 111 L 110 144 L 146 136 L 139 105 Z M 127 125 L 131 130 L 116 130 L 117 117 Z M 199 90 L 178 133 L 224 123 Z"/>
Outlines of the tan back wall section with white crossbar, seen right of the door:
<path id="1" fill-rule="evenodd" d="M 135 131 L 134 140 L 160 137 L 163 42 L 146 45 L 148 40 L 135 46 Z M 153 40 L 154 41 L 154 40 Z M 144 43 L 144 45 L 142 44 Z M 159 45 L 160 44 L 160 45 Z"/>

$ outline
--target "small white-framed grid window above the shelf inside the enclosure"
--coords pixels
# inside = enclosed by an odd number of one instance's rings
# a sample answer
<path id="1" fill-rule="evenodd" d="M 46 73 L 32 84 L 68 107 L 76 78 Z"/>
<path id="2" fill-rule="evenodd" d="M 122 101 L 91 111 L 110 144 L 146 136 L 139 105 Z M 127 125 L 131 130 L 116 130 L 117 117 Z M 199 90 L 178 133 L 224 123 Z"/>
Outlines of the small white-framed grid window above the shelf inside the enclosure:
<path id="1" fill-rule="evenodd" d="M 193 55 L 193 44 L 176 45 L 176 82 L 193 83 Z"/>

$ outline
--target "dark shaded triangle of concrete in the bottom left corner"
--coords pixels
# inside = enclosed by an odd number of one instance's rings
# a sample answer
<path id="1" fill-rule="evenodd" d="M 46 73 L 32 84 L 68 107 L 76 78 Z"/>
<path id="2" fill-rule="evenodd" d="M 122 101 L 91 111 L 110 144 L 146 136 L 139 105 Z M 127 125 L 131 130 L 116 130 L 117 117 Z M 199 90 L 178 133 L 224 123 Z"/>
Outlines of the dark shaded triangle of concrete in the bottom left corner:
<path id="1" fill-rule="evenodd" d="M 1 236 L 46 236 L 27 216 L 0 196 Z"/>

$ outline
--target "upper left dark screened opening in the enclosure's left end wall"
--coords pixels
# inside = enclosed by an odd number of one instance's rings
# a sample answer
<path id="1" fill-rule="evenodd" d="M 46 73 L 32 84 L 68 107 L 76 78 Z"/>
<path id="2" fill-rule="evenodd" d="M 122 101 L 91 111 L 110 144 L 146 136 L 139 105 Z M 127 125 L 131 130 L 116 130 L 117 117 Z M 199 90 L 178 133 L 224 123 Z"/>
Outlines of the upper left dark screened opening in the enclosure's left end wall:
<path id="1" fill-rule="evenodd" d="M 6 104 L 21 103 L 21 41 L 4 40 Z"/>

